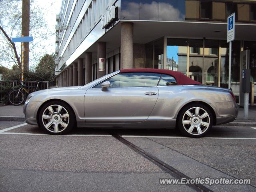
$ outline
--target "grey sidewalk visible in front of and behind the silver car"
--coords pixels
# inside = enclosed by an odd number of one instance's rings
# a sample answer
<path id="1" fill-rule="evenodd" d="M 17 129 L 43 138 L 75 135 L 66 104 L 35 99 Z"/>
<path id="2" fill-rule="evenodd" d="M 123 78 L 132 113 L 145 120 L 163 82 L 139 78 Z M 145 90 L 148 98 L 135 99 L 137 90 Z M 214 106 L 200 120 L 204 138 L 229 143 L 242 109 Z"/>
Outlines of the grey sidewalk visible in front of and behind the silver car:
<path id="1" fill-rule="evenodd" d="M 244 120 L 244 109 L 239 108 L 238 117 L 230 126 L 256 126 L 256 106 L 249 106 L 249 118 Z M 0 121 L 24 121 L 23 105 L 0 105 Z"/>

